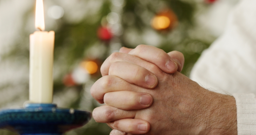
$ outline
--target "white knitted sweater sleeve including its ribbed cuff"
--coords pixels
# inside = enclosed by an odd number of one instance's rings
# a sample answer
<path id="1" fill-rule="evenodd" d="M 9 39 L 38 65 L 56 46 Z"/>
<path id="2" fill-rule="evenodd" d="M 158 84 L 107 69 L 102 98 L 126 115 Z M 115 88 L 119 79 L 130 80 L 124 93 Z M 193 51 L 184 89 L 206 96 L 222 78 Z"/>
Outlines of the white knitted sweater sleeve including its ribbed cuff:
<path id="1" fill-rule="evenodd" d="M 202 53 L 191 79 L 211 91 L 231 93 L 238 135 L 256 135 L 256 0 L 242 0 L 232 10 L 225 32 Z"/>

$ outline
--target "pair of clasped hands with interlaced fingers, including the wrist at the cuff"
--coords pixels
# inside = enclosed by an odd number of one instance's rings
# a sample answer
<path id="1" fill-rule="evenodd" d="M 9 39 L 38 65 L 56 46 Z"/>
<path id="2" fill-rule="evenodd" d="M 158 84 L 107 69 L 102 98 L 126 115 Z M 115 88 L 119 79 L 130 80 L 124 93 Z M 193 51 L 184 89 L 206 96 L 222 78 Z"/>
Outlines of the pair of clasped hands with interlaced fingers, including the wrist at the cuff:
<path id="1" fill-rule="evenodd" d="M 101 66 L 91 95 L 105 105 L 92 113 L 112 135 L 237 134 L 232 96 L 202 88 L 179 73 L 182 53 L 153 46 L 121 48 Z"/>

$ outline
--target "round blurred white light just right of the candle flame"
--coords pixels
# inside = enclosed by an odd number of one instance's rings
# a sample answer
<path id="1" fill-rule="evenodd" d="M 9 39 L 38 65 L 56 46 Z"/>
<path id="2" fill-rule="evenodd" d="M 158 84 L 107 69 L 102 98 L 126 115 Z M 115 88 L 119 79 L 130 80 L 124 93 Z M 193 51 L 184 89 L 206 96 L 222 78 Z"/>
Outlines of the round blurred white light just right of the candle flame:
<path id="1" fill-rule="evenodd" d="M 64 9 L 60 6 L 52 6 L 47 10 L 48 16 L 53 19 L 60 19 L 64 15 Z"/>

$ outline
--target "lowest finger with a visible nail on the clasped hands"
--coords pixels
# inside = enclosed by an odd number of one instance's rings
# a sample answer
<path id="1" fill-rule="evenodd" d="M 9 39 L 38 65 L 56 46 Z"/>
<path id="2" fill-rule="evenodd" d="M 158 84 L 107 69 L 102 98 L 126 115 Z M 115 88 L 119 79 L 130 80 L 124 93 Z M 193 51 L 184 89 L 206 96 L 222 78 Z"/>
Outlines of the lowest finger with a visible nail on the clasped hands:
<path id="1" fill-rule="evenodd" d="M 142 119 L 120 119 L 107 123 L 111 128 L 130 134 L 146 134 L 150 124 Z"/>

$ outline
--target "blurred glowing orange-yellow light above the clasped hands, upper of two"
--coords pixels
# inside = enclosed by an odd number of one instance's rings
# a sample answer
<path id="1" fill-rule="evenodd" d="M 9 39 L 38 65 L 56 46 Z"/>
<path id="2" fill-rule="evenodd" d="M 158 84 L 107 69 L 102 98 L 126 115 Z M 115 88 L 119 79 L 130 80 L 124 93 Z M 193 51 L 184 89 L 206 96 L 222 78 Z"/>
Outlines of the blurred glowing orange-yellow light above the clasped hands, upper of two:
<path id="1" fill-rule="evenodd" d="M 170 27 L 170 23 L 170 18 L 167 16 L 155 16 L 152 20 L 152 27 L 157 30 L 167 29 Z"/>

